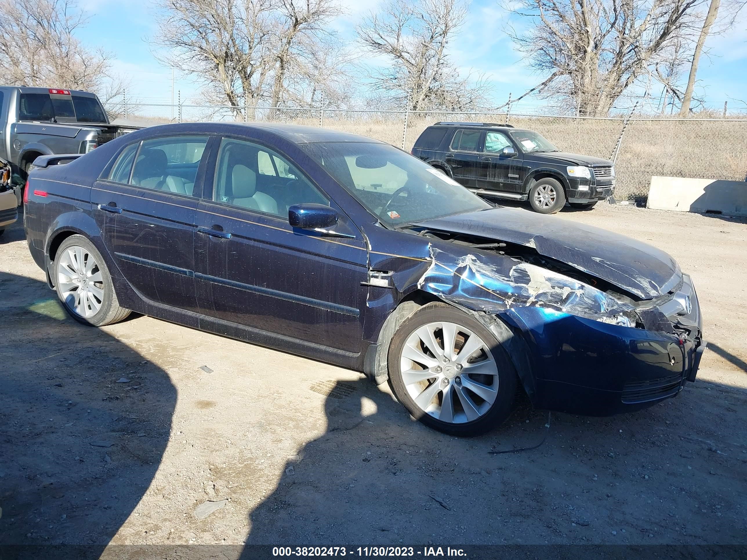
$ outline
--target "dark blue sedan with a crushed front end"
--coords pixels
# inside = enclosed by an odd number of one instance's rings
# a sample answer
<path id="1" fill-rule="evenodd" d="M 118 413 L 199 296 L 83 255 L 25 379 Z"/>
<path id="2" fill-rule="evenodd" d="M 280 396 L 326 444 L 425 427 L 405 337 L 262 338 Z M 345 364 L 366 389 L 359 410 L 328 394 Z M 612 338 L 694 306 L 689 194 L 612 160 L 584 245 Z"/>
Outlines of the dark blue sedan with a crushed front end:
<path id="1" fill-rule="evenodd" d="M 643 408 L 705 347 L 666 253 L 496 208 L 370 138 L 164 125 L 35 165 L 28 247 L 76 320 L 136 311 L 360 370 L 450 434 L 497 426 L 517 386 L 537 408 Z"/>

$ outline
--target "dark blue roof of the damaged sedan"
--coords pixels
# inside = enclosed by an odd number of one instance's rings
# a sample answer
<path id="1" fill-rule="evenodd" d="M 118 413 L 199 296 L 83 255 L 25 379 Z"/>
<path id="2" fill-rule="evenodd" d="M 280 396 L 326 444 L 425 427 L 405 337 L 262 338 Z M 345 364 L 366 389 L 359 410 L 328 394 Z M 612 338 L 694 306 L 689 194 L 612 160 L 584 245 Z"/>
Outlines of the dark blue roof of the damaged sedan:
<path id="1" fill-rule="evenodd" d="M 309 144 L 320 142 L 364 142 L 384 144 L 381 140 L 375 140 L 359 134 L 350 134 L 330 130 L 329 128 L 317 128 L 305 125 L 283 125 L 273 122 L 182 122 L 170 125 L 149 126 L 144 131 L 149 133 L 170 134 L 173 132 L 216 132 L 219 134 L 246 134 L 247 131 L 264 131 L 276 134 L 285 140 L 296 144 Z"/>

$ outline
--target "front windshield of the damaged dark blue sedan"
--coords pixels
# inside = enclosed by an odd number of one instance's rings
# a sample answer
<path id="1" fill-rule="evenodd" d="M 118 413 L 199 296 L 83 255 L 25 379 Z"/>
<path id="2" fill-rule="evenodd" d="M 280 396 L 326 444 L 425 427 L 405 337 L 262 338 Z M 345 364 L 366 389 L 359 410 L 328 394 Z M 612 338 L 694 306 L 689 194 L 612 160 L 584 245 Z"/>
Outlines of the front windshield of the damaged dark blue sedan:
<path id="1" fill-rule="evenodd" d="M 389 225 L 492 208 L 447 175 L 388 144 L 335 142 L 300 147 Z"/>

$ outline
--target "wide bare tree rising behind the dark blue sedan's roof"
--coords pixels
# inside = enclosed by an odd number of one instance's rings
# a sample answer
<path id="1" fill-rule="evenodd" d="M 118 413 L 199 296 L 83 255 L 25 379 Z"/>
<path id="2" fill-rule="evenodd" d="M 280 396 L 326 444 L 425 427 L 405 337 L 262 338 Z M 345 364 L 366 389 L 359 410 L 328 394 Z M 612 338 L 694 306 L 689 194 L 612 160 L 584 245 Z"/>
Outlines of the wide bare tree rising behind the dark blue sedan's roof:
<path id="1" fill-rule="evenodd" d="M 303 80 L 304 58 L 314 60 L 327 24 L 339 13 L 335 0 L 158 0 L 162 62 L 205 86 L 210 102 L 244 114 L 267 100 L 294 99 L 289 82 Z M 306 69 L 306 74 L 311 75 Z"/>

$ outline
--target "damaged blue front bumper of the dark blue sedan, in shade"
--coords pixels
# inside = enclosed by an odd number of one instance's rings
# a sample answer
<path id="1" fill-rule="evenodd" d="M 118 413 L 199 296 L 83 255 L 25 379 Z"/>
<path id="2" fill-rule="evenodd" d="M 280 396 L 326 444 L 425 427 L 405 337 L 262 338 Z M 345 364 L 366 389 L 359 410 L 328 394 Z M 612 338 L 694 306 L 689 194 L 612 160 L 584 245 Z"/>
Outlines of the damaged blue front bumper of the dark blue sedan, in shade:
<path id="1" fill-rule="evenodd" d="M 692 287 L 689 277 L 686 284 Z M 547 308 L 512 308 L 503 319 L 529 346 L 536 408 L 608 416 L 676 396 L 695 381 L 706 347 L 692 290 L 687 329 L 612 325 Z M 674 327 L 674 323 L 672 323 Z"/>

